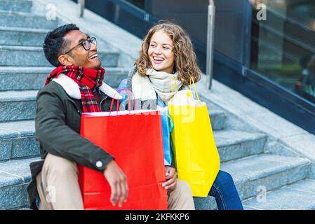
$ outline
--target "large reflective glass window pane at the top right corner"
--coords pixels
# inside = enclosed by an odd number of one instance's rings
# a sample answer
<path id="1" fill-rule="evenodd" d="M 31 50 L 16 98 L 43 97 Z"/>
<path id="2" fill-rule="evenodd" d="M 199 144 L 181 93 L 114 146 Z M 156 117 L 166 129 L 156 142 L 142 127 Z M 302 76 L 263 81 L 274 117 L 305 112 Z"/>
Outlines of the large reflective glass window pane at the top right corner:
<path id="1" fill-rule="evenodd" d="M 251 68 L 315 103 L 315 1 L 253 2 Z M 259 3 L 266 6 L 261 20 Z"/>

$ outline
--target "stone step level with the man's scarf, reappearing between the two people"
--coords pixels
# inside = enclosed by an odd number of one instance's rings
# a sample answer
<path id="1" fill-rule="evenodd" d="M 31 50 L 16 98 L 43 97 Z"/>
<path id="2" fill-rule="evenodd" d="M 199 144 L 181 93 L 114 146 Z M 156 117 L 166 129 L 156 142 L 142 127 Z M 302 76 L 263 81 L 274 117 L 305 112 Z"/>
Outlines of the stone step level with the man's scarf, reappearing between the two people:
<path id="1" fill-rule="evenodd" d="M 6 67 L 0 66 L 0 91 L 39 90 L 54 67 Z M 117 87 L 126 78 L 128 69 L 105 67 L 104 81 Z"/>

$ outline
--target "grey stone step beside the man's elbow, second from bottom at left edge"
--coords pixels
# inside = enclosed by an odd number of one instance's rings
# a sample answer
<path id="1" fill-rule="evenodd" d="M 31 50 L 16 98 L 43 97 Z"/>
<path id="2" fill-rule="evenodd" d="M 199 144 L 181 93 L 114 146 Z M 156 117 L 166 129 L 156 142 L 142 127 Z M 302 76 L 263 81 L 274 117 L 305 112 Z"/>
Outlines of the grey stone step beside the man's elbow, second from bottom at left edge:
<path id="1" fill-rule="evenodd" d="M 0 162 L 39 155 L 34 120 L 0 123 Z"/>

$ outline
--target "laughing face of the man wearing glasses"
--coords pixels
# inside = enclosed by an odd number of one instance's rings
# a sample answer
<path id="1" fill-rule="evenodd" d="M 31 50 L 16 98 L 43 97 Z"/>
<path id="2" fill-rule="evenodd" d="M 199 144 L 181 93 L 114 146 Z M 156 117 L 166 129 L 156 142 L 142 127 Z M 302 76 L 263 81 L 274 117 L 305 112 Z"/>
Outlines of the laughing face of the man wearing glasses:
<path id="1" fill-rule="evenodd" d="M 74 48 L 81 41 L 87 40 L 89 37 L 79 30 L 69 31 L 65 36 L 65 41 L 68 43 L 65 52 Z M 76 46 L 73 50 L 65 55 L 60 55 L 58 60 L 63 65 L 83 66 L 88 69 L 98 69 L 101 66 L 100 59 L 97 57 L 98 48 L 93 43 L 90 50 L 86 50 L 82 45 Z M 95 57 L 96 56 L 96 57 Z"/>

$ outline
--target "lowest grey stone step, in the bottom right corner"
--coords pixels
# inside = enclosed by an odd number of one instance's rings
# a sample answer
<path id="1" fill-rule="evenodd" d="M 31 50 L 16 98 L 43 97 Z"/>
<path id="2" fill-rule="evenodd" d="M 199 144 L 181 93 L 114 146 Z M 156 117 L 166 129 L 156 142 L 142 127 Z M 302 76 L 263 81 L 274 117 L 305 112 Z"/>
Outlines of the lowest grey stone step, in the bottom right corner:
<path id="1" fill-rule="evenodd" d="M 306 179 L 243 202 L 248 210 L 315 210 L 315 180 Z"/>

